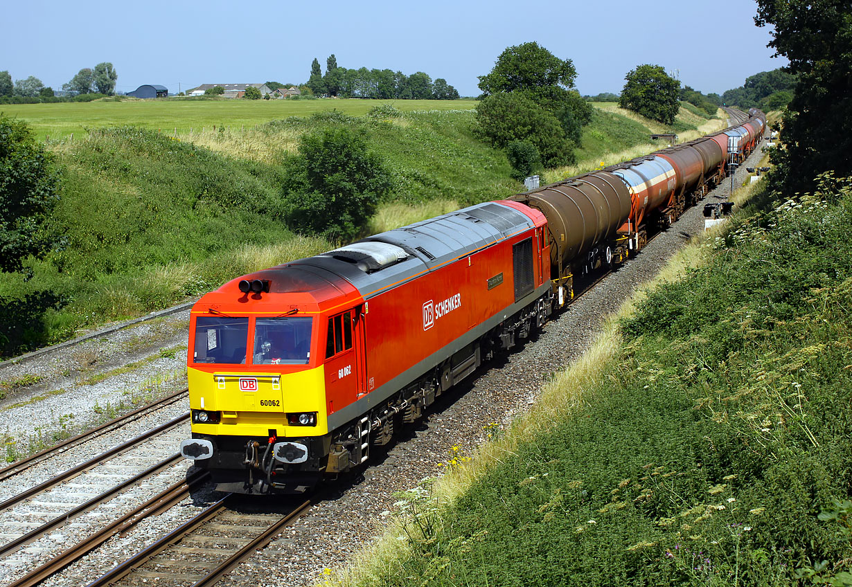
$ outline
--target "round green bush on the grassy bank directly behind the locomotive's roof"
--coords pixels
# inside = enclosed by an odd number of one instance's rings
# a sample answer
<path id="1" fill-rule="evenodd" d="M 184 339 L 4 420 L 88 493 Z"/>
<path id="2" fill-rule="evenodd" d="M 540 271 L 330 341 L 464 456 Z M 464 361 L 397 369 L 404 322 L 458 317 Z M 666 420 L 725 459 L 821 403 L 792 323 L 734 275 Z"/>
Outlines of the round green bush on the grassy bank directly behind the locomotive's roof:
<path id="1" fill-rule="evenodd" d="M 331 239 L 354 239 L 391 187 L 363 134 L 347 128 L 304 135 L 286 165 L 285 208 L 296 230 Z"/>

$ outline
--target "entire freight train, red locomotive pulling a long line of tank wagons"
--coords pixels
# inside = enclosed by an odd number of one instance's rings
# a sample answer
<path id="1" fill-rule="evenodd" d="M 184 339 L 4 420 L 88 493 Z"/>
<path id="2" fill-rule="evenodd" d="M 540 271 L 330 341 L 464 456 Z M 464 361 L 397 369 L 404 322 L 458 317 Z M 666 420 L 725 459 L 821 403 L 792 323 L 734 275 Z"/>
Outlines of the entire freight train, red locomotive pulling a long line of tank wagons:
<path id="1" fill-rule="evenodd" d="M 304 492 L 624 262 L 745 157 L 715 135 L 233 279 L 190 318 L 192 438 L 222 491 Z M 734 133 L 731 135 L 729 133 Z M 728 155 L 728 139 L 733 155 Z"/>

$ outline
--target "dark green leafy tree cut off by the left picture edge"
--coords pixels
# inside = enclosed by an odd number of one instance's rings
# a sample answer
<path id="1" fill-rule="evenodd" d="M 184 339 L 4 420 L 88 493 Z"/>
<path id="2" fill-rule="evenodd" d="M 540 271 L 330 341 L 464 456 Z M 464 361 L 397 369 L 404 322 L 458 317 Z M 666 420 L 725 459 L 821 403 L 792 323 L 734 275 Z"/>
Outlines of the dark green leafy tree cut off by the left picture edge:
<path id="1" fill-rule="evenodd" d="M 20 271 L 27 256 L 49 250 L 38 227 L 58 193 L 53 155 L 26 124 L 0 116 L 0 271 Z"/>

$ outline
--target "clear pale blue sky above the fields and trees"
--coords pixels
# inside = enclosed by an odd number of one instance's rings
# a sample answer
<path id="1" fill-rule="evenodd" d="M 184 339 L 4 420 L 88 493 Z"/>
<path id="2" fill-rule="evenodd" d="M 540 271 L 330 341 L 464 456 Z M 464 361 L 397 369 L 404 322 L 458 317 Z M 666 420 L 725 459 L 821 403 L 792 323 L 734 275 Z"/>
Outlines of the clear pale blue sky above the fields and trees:
<path id="1" fill-rule="evenodd" d="M 3 3 L 0 71 L 60 89 L 83 67 L 111 61 L 117 89 L 159 83 L 302 83 L 311 60 L 423 71 L 478 95 L 476 76 L 503 49 L 536 41 L 573 60 L 583 94 L 619 92 L 625 73 L 653 63 L 683 85 L 722 93 L 786 65 L 752 0 L 487 3 L 291 0 L 29 0 Z"/>

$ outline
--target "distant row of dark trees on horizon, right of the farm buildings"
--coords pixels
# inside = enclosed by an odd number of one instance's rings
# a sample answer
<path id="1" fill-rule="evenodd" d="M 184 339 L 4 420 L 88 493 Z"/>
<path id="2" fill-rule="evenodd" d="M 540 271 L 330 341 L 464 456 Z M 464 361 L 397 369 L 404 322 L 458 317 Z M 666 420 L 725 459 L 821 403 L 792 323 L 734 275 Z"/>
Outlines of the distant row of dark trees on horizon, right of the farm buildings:
<path id="1" fill-rule="evenodd" d="M 444 78 L 435 81 L 423 72 L 406 75 L 390 69 L 347 69 L 337 65 L 337 57 L 325 60 L 325 73 L 314 58 L 305 86 L 314 95 L 373 100 L 457 100 L 458 90 Z"/>

